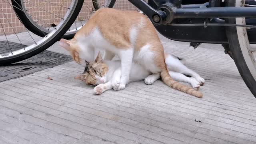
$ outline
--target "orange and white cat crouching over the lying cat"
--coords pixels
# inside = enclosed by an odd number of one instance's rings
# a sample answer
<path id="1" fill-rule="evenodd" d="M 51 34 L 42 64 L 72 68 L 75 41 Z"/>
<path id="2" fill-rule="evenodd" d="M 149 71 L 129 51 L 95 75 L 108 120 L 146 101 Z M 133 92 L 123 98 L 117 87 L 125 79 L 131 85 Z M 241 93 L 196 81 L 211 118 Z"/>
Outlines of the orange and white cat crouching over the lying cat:
<path id="1" fill-rule="evenodd" d="M 94 60 L 95 48 L 105 50 L 104 60 L 118 55 L 121 61 L 121 75 L 112 82 L 115 90 L 122 90 L 129 81 L 132 62 L 146 68 L 151 75 L 147 84 L 158 78 L 168 86 L 182 92 L 202 97 L 202 93 L 180 84 L 169 75 L 164 48 L 153 24 L 146 16 L 136 11 L 100 8 L 71 40 L 60 40 L 60 45 L 70 51 L 73 59 L 83 65 L 84 60 Z M 204 83 L 204 79 L 198 78 Z"/>

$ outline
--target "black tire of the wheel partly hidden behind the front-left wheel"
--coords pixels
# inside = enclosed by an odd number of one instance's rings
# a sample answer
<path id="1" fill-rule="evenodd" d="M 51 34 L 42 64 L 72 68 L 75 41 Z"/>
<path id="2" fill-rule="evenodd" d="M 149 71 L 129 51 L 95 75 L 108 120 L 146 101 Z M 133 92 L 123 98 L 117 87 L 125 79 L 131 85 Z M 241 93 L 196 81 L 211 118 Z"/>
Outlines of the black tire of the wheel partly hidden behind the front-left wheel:
<path id="1" fill-rule="evenodd" d="M 84 0 L 83 0 L 84 1 Z M 95 2 L 98 2 L 98 0 L 92 0 Z M 95 2 L 93 3 L 94 8 L 97 7 L 97 4 Z M 116 0 L 111 0 L 109 3 L 109 7 L 113 7 L 115 4 Z M 14 5 L 14 11 L 15 13 L 18 15 L 18 17 L 20 18 L 20 21 L 24 24 L 24 26 L 30 30 L 30 32 L 33 32 L 34 34 L 40 36 L 40 37 L 44 37 L 45 35 L 49 34 L 49 30 L 42 28 L 41 26 L 39 26 L 38 24 L 36 24 L 29 16 L 28 14 L 26 14 L 24 11 L 24 4 L 23 4 L 23 0 L 12 0 L 12 5 Z M 82 6 L 83 4 L 81 4 Z M 97 7 L 99 8 L 99 6 Z M 20 10 L 22 9 L 22 10 Z M 96 9 L 96 8 L 95 8 Z M 98 9 L 96 9 L 98 10 Z M 62 38 L 64 39 L 72 39 L 74 37 L 74 35 L 76 34 L 77 30 L 72 31 L 72 32 L 66 32 Z"/>

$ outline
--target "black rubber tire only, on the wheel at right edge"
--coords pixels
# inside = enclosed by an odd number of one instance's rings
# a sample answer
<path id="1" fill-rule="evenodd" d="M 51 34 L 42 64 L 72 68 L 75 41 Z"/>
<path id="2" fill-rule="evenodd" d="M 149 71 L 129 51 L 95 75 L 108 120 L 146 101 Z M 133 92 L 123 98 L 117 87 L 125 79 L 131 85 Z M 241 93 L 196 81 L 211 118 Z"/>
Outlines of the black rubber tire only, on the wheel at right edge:
<path id="1" fill-rule="evenodd" d="M 234 0 L 228 0 L 226 2 L 227 2 L 226 3 L 227 6 L 235 6 Z M 236 19 L 229 18 L 228 22 L 231 24 L 235 24 Z M 252 74 L 246 64 L 244 56 L 242 54 L 236 27 L 226 27 L 226 34 L 228 37 L 228 43 L 230 46 L 230 51 L 232 53 L 232 57 L 234 59 L 234 62 L 236 63 L 236 67 L 238 68 L 238 71 L 239 71 L 240 75 L 242 76 L 246 86 L 250 89 L 250 91 L 256 98 L 256 80 L 252 76 Z"/>

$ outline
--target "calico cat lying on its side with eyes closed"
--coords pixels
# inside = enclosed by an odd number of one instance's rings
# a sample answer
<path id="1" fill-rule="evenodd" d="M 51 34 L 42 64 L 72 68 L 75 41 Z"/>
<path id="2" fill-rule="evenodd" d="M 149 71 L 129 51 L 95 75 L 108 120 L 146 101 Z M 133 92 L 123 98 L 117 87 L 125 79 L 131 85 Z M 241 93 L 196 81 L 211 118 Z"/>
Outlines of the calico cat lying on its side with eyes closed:
<path id="1" fill-rule="evenodd" d="M 196 72 L 188 69 L 182 62 L 184 60 L 178 59 L 176 56 L 170 54 L 166 55 L 165 62 L 168 69 L 170 69 L 169 74 L 174 80 L 180 82 L 187 82 L 192 85 L 195 90 L 200 87 L 200 82 L 204 81 Z M 174 72 L 173 70 L 176 70 Z M 183 74 L 182 74 L 183 73 Z M 149 76 L 152 73 L 136 62 L 132 62 L 132 71 L 129 76 L 128 82 L 144 80 L 146 84 L 152 84 L 155 80 L 160 78 L 160 76 L 152 79 Z M 191 78 L 185 76 L 187 74 L 192 76 Z M 102 60 L 100 53 L 94 61 L 87 62 L 84 72 L 75 77 L 77 80 L 83 80 L 87 85 L 98 85 L 94 88 L 94 94 L 102 94 L 106 90 L 113 88 L 116 84 L 116 80 L 119 80 L 121 76 L 121 61 L 120 60 Z M 200 92 L 196 91 L 198 94 L 195 95 L 199 98 L 202 97 Z"/>

